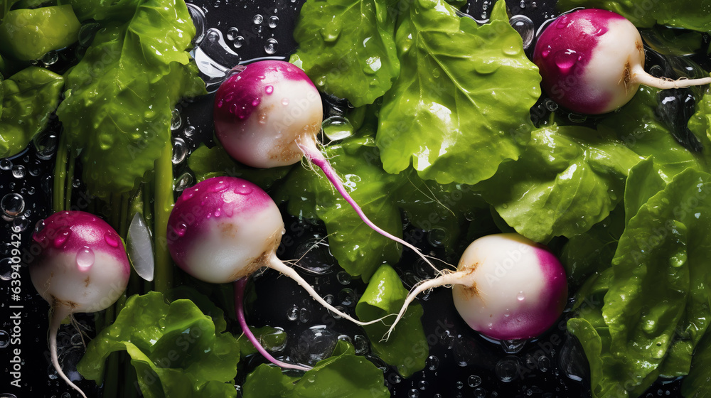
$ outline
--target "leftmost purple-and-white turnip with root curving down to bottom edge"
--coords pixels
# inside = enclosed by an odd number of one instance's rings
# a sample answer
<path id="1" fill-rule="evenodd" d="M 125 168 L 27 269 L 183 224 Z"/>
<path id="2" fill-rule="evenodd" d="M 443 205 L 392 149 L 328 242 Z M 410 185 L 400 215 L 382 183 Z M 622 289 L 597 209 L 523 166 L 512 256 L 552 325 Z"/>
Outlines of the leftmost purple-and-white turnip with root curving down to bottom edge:
<path id="1" fill-rule="evenodd" d="M 80 211 L 55 213 L 32 235 L 40 254 L 29 264 L 32 284 L 50 303 L 49 349 L 58 375 L 82 397 L 62 371 L 57 331 L 73 313 L 101 311 L 126 289 L 131 266 L 121 238 L 105 221 Z"/>

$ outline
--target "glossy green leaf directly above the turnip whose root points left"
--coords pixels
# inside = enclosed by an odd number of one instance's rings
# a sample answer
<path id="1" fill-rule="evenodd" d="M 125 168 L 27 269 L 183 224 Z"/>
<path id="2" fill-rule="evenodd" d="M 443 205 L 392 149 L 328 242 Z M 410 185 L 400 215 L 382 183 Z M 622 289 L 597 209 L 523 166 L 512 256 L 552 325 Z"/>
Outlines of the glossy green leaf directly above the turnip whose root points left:
<path id="1" fill-rule="evenodd" d="M 622 199 L 629 168 L 641 158 L 610 134 L 577 126 L 536 129 L 518 161 L 476 188 L 515 230 L 536 242 L 573 237 Z"/>

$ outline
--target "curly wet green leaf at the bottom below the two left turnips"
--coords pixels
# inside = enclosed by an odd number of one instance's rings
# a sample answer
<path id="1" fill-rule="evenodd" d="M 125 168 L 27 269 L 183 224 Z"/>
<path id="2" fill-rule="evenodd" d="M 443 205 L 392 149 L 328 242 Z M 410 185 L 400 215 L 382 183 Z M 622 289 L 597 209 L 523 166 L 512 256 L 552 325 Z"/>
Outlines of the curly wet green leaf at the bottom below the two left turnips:
<path id="1" fill-rule="evenodd" d="M 235 397 L 240 345 L 225 333 L 224 321 L 216 325 L 190 300 L 169 304 L 157 292 L 131 296 L 114 324 L 89 343 L 77 369 L 100 382 L 109 354 L 125 350 L 145 397 L 210 397 L 216 391 Z"/>

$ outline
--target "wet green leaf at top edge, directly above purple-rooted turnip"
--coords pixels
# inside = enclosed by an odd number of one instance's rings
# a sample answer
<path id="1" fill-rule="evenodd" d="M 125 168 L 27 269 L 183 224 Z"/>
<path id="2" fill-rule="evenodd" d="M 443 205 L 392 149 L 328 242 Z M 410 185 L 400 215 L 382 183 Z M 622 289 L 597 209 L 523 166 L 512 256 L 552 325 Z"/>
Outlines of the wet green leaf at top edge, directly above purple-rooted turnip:
<path id="1" fill-rule="evenodd" d="M 394 0 L 309 0 L 294 38 L 296 58 L 320 90 L 371 104 L 400 71 L 395 50 Z"/>

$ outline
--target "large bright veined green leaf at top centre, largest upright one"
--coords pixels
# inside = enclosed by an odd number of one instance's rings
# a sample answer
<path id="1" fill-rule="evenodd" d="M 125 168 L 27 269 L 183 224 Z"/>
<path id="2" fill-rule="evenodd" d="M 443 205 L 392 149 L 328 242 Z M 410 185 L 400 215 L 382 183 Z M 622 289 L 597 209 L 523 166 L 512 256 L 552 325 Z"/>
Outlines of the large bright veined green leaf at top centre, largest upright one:
<path id="1" fill-rule="evenodd" d="M 423 179 L 474 184 L 518 158 L 540 75 L 505 7 L 498 1 L 482 26 L 439 0 L 405 11 L 396 32 L 402 70 L 380 111 L 385 171 L 412 163 Z"/>

